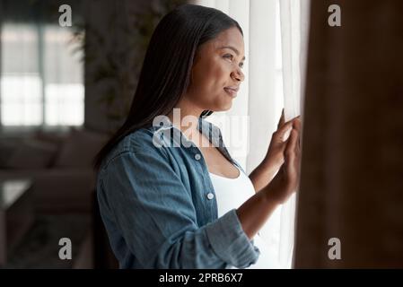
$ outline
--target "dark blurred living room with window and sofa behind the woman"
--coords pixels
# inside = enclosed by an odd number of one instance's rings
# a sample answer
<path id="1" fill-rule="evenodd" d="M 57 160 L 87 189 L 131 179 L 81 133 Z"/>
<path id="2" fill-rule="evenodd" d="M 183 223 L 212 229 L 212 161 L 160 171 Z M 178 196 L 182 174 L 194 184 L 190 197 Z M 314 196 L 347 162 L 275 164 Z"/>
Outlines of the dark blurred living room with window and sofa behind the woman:
<path id="1" fill-rule="evenodd" d="M 116 267 L 92 158 L 126 116 L 153 28 L 181 3 L 0 1 L 0 266 Z"/>

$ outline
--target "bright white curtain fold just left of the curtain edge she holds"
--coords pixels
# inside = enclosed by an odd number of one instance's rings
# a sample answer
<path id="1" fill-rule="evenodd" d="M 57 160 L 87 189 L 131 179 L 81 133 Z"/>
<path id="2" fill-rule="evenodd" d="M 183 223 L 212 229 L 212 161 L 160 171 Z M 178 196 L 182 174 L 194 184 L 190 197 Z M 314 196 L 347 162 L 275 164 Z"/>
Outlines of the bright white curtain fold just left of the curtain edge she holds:
<path id="1" fill-rule="evenodd" d="M 278 119 L 283 107 L 281 82 L 281 55 L 276 45 L 280 39 L 278 21 L 278 3 L 276 0 L 250 1 L 250 150 L 247 170 L 251 172 L 267 153 L 270 136 L 276 131 Z M 273 265 L 267 268 L 286 267 L 279 261 L 281 210 L 277 209 L 267 220 L 260 235 L 267 242 L 267 248 L 273 257 Z"/>

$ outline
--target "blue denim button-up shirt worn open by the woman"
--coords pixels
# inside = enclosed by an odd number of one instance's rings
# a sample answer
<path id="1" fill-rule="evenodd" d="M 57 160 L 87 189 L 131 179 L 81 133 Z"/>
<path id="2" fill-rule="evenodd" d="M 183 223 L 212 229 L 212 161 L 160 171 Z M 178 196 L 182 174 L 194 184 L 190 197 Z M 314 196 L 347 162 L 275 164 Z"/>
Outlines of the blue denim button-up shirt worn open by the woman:
<path id="1" fill-rule="evenodd" d="M 200 118 L 198 129 L 245 172 L 218 127 Z M 206 161 L 169 120 L 115 146 L 98 172 L 97 196 L 120 268 L 245 268 L 258 260 L 235 209 L 217 218 Z"/>

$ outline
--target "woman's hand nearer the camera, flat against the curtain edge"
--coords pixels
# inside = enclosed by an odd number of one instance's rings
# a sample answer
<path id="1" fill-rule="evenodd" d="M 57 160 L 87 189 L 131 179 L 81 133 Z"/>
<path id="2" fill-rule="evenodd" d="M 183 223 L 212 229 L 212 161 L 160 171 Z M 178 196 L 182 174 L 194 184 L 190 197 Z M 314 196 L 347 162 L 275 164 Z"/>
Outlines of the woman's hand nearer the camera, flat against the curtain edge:
<path id="1" fill-rule="evenodd" d="M 276 177 L 267 186 L 269 198 L 277 204 L 284 204 L 289 196 L 296 191 L 300 180 L 301 163 L 301 120 L 295 117 L 292 120 L 292 130 L 284 150 L 284 163 L 278 170 Z M 280 145 L 280 144 L 279 144 Z"/>

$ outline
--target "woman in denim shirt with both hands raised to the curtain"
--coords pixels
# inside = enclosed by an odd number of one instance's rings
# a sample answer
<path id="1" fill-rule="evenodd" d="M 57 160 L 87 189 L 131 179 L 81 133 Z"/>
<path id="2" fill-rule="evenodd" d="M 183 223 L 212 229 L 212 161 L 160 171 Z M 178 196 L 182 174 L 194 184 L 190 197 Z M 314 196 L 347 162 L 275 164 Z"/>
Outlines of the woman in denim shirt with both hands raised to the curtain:
<path id="1" fill-rule="evenodd" d="M 258 230 L 297 187 L 300 122 L 279 124 L 248 177 L 204 119 L 231 108 L 243 61 L 241 27 L 218 10 L 181 5 L 154 30 L 127 120 L 95 160 L 121 268 L 258 264 Z"/>

